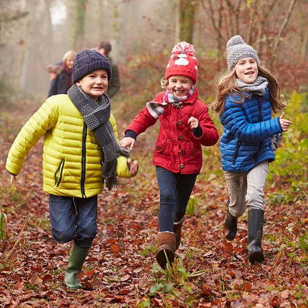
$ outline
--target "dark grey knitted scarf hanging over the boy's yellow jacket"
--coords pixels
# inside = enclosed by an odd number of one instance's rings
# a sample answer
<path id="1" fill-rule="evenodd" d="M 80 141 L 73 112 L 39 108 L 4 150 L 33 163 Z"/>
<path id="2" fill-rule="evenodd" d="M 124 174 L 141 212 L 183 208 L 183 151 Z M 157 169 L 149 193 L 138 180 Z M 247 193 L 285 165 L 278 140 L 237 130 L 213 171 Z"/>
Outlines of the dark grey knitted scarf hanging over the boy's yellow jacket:
<path id="1" fill-rule="evenodd" d="M 123 155 L 129 157 L 129 152 L 117 142 L 114 136 L 113 127 L 109 122 L 110 117 L 110 99 L 106 94 L 99 97 L 98 103 L 95 102 L 82 87 L 73 84 L 67 91 L 68 97 L 75 107 L 82 114 L 83 120 L 88 128 L 94 132 L 95 137 L 100 143 L 104 163 L 102 166 L 103 181 L 106 180 L 106 186 L 109 190 L 117 187 L 117 162 L 118 157 Z"/>

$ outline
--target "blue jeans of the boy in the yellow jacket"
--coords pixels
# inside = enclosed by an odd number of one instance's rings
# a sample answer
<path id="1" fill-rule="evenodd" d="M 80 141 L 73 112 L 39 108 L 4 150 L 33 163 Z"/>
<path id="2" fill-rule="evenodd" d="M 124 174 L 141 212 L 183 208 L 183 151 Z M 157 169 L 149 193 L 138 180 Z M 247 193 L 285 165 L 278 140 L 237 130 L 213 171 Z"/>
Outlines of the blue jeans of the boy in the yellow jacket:
<path id="1" fill-rule="evenodd" d="M 98 196 L 73 198 L 50 194 L 49 216 L 55 241 L 73 240 L 81 248 L 90 248 L 97 235 Z"/>

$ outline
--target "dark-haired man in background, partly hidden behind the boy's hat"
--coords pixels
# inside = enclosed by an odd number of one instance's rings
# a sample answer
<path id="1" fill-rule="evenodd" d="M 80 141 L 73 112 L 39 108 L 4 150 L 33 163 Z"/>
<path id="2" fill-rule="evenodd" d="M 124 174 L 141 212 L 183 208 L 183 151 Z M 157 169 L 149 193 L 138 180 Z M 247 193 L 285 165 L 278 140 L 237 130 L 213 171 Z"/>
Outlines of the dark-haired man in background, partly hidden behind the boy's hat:
<path id="1" fill-rule="evenodd" d="M 120 86 L 121 86 L 118 65 L 114 62 L 114 60 L 109 54 L 111 51 L 111 45 L 109 42 L 106 42 L 106 41 L 101 42 L 99 46 L 97 46 L 96 49 L 100 53 L 104 54 L 111 64 L 112 76 L 108 84 L 108 90 L 106 92 L 108 97 L 111 99 L 115 94 L 118 93 L 118 91 L 120 90 Z"/>

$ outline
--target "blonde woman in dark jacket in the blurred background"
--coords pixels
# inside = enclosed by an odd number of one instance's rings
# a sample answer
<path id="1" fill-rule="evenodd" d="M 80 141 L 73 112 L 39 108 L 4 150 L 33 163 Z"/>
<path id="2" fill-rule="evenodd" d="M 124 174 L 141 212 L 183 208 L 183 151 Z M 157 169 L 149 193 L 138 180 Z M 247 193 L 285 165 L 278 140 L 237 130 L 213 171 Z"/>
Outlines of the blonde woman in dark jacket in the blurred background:
<path id="1" fill-rule="evenodd" d="M 47 71 L 51 73 L 51 83 L 47 98 L 51 95 L 66 94 L 67 90 L 73 85 L 72 73 L 75 55 L 74 50 L 68 50 L 64 54 L 62 62 L 48 65 Z"/>

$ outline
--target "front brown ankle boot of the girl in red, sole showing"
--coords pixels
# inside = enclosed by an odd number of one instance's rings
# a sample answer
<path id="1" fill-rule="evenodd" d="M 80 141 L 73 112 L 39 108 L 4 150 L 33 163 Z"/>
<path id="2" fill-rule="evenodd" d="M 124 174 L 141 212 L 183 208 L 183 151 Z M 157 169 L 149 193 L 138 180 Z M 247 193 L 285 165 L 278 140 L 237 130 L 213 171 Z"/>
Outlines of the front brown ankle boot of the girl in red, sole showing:
<path id="1" fill-rule="evenodd" d="M 175 259 L 176 252 L 176 236 L 173 232 L 159 232 L 157 235 L 157 251 L 156 251 L 156 260 L 158 264 L 165 268 L 167 264 L 167 259 L 165 253 L 171 264 Z"/>

